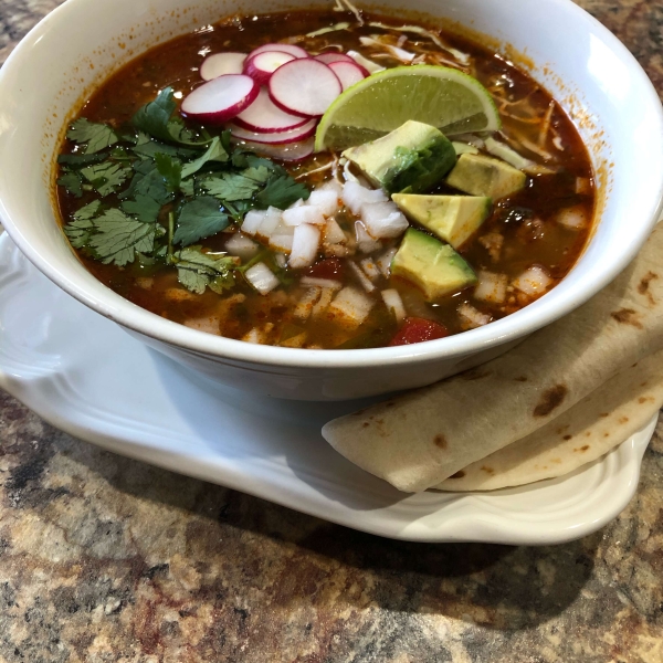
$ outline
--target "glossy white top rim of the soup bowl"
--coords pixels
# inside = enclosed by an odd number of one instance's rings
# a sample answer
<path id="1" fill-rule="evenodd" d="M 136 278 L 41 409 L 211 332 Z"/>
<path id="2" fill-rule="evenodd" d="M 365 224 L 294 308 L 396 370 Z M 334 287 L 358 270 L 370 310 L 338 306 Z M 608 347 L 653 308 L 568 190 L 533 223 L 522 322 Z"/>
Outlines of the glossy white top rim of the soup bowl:
<path id="1" fill-rule="evenodd" d="M 63 18 L 67 11 L 75 11 L 78 4 L 88 0 L 67 0 L 44 19 L 42 19 L 14 48 L 7 62 L 0 70 L 0 90 L 8 73 L 17 66 L 21 66 L 21 59 L 29 53 L 32 46 L 51 29 L 51 24 Z M 631 52 L 597 19 L 591 17 L 582 8 L 571 0 L 545 0 L 552 6 L 561 7 L 565 11 L 575 13 L 578 21 L 585 22 L 588 31 L 598 33 L 610 50 L 625 64 L 629 75 L 633 76 L 639 88 L 645 91 L 640 99 L 642 104 L 651 106 L 654 110 L 659 135 L 663 136 L 663 107 L 659 95 L 649 80 L 646 73 L 638 63 Z M 371 7 L 372 9 L 372 7 Z M 263 366 L 286 368 L 369 368 L 398 366 L 402 364 L 421 364 L 436 359 L 463 357 L 474 355 L 477 351 L 490 349 L 502 345 L 550 324 L 551 322 L 567 315 L 579 305 L 587 302 L 591 296 L 608 285 L 635 256 L 644 243 L 652 228 L 655 225 L 663 209 L 663 167 L 661 168 L 659 190 L 652 192 L 651 200 L 646 206 L 648 221 L 641 222 L 639 232 L 634 233 L 631 242 L 624 246 L 619 261 L 607 265 L 598 265 L 592 286 L 580 294 L 576 291 L 560 292 L 559 287 L 564 281 L 550 293 L 544 295 L 525 308 L 513 313 L 504 318 L 495 320 L 490 325 L 471 329 L 443 339 L 413 344 L 398 347 L 367 348 L 367 349 L 303 349 L 284 348 L 280 346 L 266 346 L 250 344 L 221 336 L 215 336 L 197 329 L 191 329 L 179 323 L 167 320 L 156 314 L 143 309 L 125 299 L 115 292 L 103 286 L 99 294 L 92 294 L 74 280 L 70 280 L 59 271 L 49 260 L 36 251 L 21 232 L 21 223 L 14 223 L 4 200 L 0 199 L 0 218 L 11 239 L 17 243 L 21 252 L 51 281 L 66 293 L 78 299 L 95 312 L 118 323 L 120 326 L 131 329 L 143 336 L 175 346 L 193 355 L 204 356 L 207 359 L 219 362 L 249 362 Z M 643 212 L 645 213 L 645 212 Z M 53 211 L 54 222 L 57 222 Z M 594 219 L 594 223 L 598 220 Z M 588 241 L 585 250 L 591 244 Z M 579 264 L 582 256 L 576 263 Z M 572 270 L 571 270 L 572 271 Z M 552 297 L 552 305 L 549 295 Z M 541 304 L 543 303 L 543 304 Z"/>

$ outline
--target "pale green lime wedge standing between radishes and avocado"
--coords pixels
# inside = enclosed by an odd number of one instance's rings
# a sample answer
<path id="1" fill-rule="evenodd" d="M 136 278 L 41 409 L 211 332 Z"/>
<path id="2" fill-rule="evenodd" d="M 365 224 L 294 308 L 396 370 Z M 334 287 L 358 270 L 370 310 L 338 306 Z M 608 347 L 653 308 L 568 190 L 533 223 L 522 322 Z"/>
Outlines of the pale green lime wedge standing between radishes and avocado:
<path id="1" fill-rule="evenodd" d="M 501 127 L 488 91 L 472 76 L 446 66 L 397 66 L 371 74 L 336 98 L 318 125 L 315 150 L 361 145 L 408 119 L 446 136 Z"/>

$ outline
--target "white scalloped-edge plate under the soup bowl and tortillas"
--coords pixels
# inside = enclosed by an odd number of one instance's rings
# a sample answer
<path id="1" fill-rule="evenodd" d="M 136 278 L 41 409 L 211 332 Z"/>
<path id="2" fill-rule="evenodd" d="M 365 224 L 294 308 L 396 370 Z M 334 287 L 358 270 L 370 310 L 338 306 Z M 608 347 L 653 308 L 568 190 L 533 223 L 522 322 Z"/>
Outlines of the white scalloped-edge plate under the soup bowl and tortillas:
<path id="1" fill-rule="evenodd" d="M 359 402 L 254 397 L 182 370 L 59 290 L 0 236 L 0 387 L 110 451 L 364 532 L 525 545 L 579 538 L 628 504 L 656 423 L 560 480 L 407 495 L 320 436 L 325 421 Z"/>

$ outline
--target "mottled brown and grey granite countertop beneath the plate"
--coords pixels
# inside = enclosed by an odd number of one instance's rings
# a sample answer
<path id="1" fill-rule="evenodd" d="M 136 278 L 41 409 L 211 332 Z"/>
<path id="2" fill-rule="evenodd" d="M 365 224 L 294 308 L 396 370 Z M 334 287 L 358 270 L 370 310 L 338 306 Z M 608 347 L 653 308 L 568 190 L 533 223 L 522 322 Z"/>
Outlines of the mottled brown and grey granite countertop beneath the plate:
<path id="1" fill-rule="evenodd" d="M 0 62 L 56 0 L 0 0 Z M 663 0 L 581 0 L 663 92 Z M 330 525 L 59 432 L 0 391 L 0 663 L 663 661 L 663 424 L 544 548 Z"/>

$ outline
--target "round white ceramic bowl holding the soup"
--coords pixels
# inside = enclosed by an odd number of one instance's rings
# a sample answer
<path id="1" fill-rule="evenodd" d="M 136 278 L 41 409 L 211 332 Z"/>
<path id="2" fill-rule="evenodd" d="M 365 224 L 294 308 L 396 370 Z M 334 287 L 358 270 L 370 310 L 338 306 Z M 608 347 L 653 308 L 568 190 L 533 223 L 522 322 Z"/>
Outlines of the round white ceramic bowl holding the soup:
<path id="1" fill-rule="evenodd" d="M 80 101 L 119 65 L 172 36 L 236 11 L 309 6 L 69 0 L 48 15 L 0 71 L 0 213 L 20 250 L 64 291 L 180 364 L 241 389 L 308 400 L 423 386 L 485 361 L 586 302 L 632 260 L 663 196 L 663 114 L 633 56 L 570 0 L 421 0 L 419 11 L 490 34 L 505 53 L 526 54 L 530 73 L 566 108 L 589 147 L 599 218 L 580 261 L 556 288 L 518 313 L 451 338 L 370 350 L 302 350 L 196 332 L 103 286 L 74 256 L 53 211 L 54 155 Z M 402 0 L 380 6 L 394 13 Z"/>

